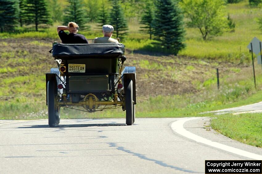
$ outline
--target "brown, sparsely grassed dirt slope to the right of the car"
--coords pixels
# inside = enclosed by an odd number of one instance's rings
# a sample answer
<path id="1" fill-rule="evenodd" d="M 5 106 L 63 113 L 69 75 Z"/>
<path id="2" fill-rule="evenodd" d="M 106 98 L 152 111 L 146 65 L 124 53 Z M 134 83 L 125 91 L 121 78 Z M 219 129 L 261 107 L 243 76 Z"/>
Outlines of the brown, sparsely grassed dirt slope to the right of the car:
<path id="1" fill-rule="evenodd" d="M 235 74 L 231 68 L 247 67 L 245 64 L 131 51 L 126 51 L 126 57 L 125 66 L 137 68 L 137 95 L 141 99 L 157 95 L 197 93 L 199 84 L 216 78 L 216 68 L 219 68 L 220 77 L 223 78 Z M 143 65 L 145 61 L 149 65 Z"/>

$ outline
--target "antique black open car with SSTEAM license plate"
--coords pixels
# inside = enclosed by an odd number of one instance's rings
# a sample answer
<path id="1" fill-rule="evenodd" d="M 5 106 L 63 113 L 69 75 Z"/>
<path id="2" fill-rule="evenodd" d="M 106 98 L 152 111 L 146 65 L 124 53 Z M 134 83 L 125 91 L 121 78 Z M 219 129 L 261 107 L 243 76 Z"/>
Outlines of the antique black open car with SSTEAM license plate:
<path id="1" fill-rule="evenodd" d="M 58 68 L 46 73 L 48 124 L 60 122 L 60 107 L 86 112 L 122 107 L 135 121 L 136 67 L 125 67 L 121 43 L 53 44 Z M 123 71 L 122 71 L 123 70 Z"/>

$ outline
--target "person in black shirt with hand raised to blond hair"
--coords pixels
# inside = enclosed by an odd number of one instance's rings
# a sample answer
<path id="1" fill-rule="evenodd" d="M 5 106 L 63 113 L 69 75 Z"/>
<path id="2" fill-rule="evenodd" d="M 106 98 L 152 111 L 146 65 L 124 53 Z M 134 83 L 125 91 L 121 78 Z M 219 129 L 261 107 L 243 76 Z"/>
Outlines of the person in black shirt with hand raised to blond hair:
<path id="1" fill-rule="evenodd" d="M 66 34 L 64 30 L 68 30 Z M 57 32 L 62 43 L 88 43 L 87 39 L 82 34 L 77 34 L 79 26 L 76 22 L 69 22 L 68 26 L 58 26 Z"/>

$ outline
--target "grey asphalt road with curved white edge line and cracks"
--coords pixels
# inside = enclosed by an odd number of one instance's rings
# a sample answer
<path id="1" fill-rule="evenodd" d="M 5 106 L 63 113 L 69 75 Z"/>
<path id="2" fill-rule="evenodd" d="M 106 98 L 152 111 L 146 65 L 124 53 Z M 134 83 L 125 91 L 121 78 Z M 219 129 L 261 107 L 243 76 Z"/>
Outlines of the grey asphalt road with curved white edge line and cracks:
<path id="1" fill-rule="evenodd" d="M 0 120 L 0 173 L 204 173 L 205 160 L 262 160 L 262 148 L 208 124 L 209 118 L 136 119 L 132 126 L 125 119 L 62 119 L 50 128 L 47 120 Z"/>

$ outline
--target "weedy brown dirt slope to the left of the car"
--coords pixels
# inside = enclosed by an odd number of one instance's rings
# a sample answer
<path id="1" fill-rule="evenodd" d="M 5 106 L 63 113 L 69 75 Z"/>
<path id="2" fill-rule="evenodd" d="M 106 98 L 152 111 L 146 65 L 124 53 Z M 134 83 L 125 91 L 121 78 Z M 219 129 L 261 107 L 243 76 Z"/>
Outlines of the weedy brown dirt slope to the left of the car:
<path id="1" fill-rule="evenodd" d="M 0 46 L 0 68 L 9 67 L 14 70 L 1 73 L 1 78 L 44 75 L 50 67 L 55 66 L 55 61 L 48 52 L 52 47 L 51 40 L 0 39 Z"/>

